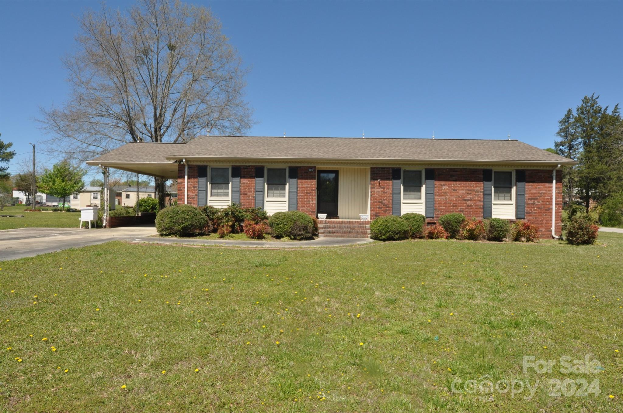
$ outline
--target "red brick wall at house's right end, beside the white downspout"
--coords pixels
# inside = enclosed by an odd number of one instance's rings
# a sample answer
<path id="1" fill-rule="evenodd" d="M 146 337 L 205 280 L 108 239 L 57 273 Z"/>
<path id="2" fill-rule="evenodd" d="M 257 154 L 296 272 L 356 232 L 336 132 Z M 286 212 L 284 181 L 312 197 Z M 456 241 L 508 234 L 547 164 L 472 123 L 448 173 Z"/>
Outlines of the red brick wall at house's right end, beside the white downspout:
<path id="1" fill-rule="evenodd" d="M 526 221 L 539 227 L 541 238 L 551 238 L 552 170 L 526 170 Z M 556 171 L 556 223 L 554 232 L 560 235 L 563 213 L 562 172 Z"/>

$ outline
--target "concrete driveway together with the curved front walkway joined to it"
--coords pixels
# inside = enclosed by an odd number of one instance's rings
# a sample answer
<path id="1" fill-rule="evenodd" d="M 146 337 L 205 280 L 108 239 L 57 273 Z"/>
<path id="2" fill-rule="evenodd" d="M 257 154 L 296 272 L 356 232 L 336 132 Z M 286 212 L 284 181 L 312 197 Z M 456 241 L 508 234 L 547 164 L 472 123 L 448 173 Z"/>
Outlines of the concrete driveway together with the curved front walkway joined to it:
<path id="1" fill-rule="evenodd" d="M 152 225 L 86 230 L 78 228 L 18 228 L 0 231 L 0 261 L 34 257 L 39 254 L 62 251 L 108 241 L 133 241 L 156 244 L 194 244 L 240 246 L 256 248 L 331 247 L 369 243 L 362 238 L 317 238 L 312 241 L 232 241 L 223 239 L 152 238 L 156 228 Z"/>

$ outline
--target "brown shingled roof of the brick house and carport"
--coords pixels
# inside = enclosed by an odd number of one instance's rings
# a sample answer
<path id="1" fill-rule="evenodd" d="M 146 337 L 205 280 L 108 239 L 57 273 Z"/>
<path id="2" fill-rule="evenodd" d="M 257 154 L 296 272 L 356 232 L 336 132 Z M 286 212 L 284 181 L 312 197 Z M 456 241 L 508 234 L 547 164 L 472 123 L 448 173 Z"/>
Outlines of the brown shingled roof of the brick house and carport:
<path id="1" fill-rule="evenodd" d="M 186 144 L 129 143 L 89 164 L 172 162 L 183 158 L 575 163 L 538 147 L 507 139 L 199 136 Z"/>

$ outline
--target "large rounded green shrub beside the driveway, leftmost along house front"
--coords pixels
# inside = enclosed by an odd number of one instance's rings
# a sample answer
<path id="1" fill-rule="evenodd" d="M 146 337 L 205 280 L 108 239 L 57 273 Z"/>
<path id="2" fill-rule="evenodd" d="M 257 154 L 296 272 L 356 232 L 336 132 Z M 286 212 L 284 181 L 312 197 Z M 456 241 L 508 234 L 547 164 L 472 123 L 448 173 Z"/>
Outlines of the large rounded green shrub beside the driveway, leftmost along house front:
<path id="1" fill-rule="evenodd" d="M 206 216 L 192 205 L 167 207 L 156 216 L 156 231 L 161 235 L 196 235 L 202 233 L 206 226 Z"/>

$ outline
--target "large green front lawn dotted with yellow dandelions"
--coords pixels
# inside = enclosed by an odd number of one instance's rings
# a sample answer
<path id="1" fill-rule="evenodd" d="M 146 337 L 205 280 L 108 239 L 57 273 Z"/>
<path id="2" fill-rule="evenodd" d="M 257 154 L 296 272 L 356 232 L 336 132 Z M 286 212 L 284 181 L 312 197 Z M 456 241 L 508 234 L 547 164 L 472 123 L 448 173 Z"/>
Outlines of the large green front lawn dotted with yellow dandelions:
<path id="1" fill-rule="evenodd" d="M 0 406 L 623 411 L 623 236 L 599 243 L 115 242 L 0 262 Z M 598 360 L 591 373 L 559 371 L 561 356 L 586 355 Z M 523 374 L 523 356 L 556 364 Z M 483 378 L 540 384 L 529 400 L 518 383 L 515 394 L 451 391 Z M 555 379 L 567 380 L 559 397 Z M 581 396 L 583 380 L 601 393 Z"/>

